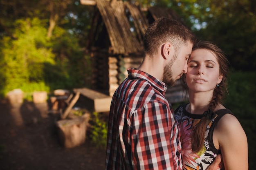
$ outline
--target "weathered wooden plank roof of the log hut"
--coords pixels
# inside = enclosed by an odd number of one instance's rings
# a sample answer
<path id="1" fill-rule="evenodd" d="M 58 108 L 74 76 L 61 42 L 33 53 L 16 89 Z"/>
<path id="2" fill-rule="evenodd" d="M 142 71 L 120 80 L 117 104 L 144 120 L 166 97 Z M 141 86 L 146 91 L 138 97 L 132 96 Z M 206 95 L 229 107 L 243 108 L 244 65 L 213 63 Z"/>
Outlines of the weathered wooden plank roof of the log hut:
<path id="1" fill-rule="evenodd" d="M 81 3 L 86 4 L 88 1 L 96 4 L 106 26 L 111 44 L 110 53 L 143 53 L 143 37 L 150 23 L 140 7 L 122 0 L 81 0 Z M 179 20 L 175 12 L 169 8 L 150 7 L 147 10 L 153 20 L 162 16 Z"/>

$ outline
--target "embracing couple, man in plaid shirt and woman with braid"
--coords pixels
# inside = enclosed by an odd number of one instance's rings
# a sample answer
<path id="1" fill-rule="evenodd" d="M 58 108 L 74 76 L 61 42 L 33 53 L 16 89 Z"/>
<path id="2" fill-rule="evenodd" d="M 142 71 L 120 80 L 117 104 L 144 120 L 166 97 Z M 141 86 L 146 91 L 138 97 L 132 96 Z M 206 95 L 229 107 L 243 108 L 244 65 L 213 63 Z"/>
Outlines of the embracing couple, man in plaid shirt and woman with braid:
<path id="1" fill-rule="evenodd" d="M 106 170 L 205 170 L 211 163 L 208 170 L 216 170 L 220 151 L 226 170 L 248 169 L 245 132 L 220 104 L 227 59 L 209 42 L 193 46 L 193 39 L 168 18 L 148 27 L 143 62 L 128 69 L 112 98 Z M 164 94 L 180 77 L 189 104 L 174 112 Z"/>

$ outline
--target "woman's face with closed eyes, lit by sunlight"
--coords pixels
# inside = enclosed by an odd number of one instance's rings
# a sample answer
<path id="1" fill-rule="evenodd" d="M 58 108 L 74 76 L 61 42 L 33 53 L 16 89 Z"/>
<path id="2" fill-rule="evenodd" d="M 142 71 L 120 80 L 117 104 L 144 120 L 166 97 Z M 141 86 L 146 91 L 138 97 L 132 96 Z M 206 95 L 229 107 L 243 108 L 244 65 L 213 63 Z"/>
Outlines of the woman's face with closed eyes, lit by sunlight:
<path id="1" fill-rule="evenodd" d="M 189 91 L 213 91 L 221 80 L 222 75 L 220 75 L 215 54 L 207 49 L 192 51 L 186 73 L 186 84 Z"/>

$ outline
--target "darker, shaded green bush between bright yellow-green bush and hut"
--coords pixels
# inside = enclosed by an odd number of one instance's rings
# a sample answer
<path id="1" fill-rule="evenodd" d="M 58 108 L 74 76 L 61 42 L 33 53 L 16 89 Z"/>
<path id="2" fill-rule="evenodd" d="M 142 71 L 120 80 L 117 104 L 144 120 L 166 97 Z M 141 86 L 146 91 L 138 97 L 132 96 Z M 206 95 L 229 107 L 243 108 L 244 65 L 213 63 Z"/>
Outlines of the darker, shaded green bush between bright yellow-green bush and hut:
<path id="1" fill-rule="evenodd" d="M 58 86 L 58 88 L 84 86 L 85 77 L 90 76 L 90 58 L 83 54 L 79 39 L 56 26 L 51 43 L 56 54 L 56 64 L 46 64 L 46 68 L 49 69 L 45 69 L 47 73 L 45 82 L 49 83 L 51 89 Z M 58 84 L 55 83 L 56 81 Z"/>

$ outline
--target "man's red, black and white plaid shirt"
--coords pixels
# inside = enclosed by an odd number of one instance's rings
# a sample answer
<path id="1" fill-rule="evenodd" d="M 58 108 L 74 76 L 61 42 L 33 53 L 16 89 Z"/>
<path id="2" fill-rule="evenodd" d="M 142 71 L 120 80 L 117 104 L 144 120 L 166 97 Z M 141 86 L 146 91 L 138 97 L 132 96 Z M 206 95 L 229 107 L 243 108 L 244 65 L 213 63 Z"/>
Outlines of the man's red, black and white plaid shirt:
<path id="1" fill-rule="evenodd" d="M 106 170 L 181 170 L 180 132 L 162 81 L 134 68 L 113 95 Z"/>

